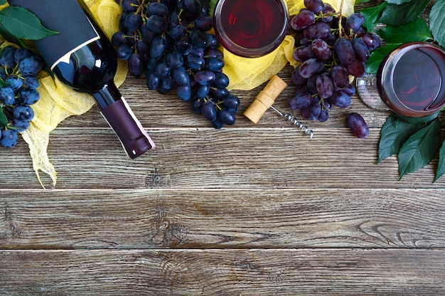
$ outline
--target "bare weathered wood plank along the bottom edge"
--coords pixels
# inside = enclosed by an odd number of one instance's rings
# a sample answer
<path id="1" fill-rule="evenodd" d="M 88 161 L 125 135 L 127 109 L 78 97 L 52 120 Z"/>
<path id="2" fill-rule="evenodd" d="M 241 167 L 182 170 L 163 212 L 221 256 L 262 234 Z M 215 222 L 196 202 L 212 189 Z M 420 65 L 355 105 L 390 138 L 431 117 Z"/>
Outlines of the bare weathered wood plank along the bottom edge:
<path id="1" fill-rule="evenodd" d="M 444 295 L 444 250 L 4 250 L 1 295 Z"/>

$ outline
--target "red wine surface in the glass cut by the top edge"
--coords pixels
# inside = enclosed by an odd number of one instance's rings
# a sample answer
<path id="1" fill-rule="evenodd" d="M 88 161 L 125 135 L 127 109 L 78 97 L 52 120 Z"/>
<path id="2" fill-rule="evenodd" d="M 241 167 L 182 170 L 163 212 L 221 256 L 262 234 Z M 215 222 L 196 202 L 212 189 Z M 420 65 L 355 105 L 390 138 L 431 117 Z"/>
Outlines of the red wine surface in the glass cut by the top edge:
<path id="1" fill-rule="evenodd" d="M 282 35 L 284 9 L 279 0 L 226 0 L 223 31 L 238 46 L 262 48 Z"/>

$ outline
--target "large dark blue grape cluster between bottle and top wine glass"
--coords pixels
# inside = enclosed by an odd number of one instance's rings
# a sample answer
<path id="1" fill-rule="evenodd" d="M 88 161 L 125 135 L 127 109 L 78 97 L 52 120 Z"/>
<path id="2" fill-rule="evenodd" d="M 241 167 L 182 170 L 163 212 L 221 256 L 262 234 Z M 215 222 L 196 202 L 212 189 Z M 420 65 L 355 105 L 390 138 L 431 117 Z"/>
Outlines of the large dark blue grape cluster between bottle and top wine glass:
<path id="1" fill-rule="evenodd" d="M 144 73 L 149 90 L 175 92 L 220 129 L 235 124 L 240 99 L 227 90 L 223 53 L 209 33 L 213 18 L 204 2 L 120 0 L 123 13 L 112 44 L 132 75 Z"/>

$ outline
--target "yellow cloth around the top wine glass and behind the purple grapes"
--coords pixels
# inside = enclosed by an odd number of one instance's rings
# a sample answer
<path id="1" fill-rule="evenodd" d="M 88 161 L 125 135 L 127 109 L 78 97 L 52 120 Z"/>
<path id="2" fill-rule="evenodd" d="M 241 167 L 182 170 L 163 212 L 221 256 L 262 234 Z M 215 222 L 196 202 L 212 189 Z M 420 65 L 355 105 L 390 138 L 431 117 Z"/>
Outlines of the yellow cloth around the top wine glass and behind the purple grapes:
<path id="1" fill-rule="evenodd" d="M 344 16 L 353 14 L 354 0 L 326 0 L 324 2 L 331 4 L 336 11 L 339 11 L 342 1 L 342 14 Z M 292 16 L 298 14 L 300 9 L 304 7 L 304 0 L 286 0 L 286 5 L 289 9 L 289 15 Z M 223 72 L 230 78 L 228 89 L 252 90 L 252 88 L 262 85 L 273 75 L 279 73 L 287 63 L 296 67 L 298 62 L 292 57 L 294 43 L 294 38 L 288 35 L 275 51 L 260 58 L 241 58 L 222 49 L 225 60 Z"/>

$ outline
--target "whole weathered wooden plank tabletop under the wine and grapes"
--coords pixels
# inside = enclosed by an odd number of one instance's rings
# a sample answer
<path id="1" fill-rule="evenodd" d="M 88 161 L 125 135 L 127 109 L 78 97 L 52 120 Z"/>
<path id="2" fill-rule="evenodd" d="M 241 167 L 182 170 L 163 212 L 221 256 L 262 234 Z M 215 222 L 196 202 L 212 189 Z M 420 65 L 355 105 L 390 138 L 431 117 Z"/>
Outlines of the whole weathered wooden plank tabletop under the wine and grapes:
<path id="1" fill-rule="evenodd" d="M 235 91 L 236 125 L 215 130 L 144 83 L 120 88 L 157 144 L 138 159 L 97 107 L 51 133 L 53 189 L 23 140 L 0 149 L 0 295 L 445 294 L 445 177 L 437 158 L 402 180 L 396 157 L 376 164 L 389 112 L 354 97 L 305 122 L 309 139 L 272 110 L 242 116 L 261 85 Z"/>

